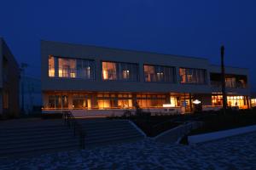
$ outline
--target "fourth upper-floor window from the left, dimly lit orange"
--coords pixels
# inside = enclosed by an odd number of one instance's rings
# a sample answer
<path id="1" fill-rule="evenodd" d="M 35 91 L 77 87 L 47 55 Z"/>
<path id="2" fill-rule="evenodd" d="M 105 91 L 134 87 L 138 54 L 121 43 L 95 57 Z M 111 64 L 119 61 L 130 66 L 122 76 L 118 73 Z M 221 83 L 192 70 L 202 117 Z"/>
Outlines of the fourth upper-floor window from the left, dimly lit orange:
<path id="1" fill-rule="evenodd" d="M 180 68 L 179 76 L 181 78 L 181 83 L 207 83 L 207 71 L 205 69 Z"/>

